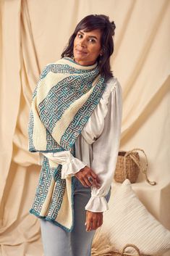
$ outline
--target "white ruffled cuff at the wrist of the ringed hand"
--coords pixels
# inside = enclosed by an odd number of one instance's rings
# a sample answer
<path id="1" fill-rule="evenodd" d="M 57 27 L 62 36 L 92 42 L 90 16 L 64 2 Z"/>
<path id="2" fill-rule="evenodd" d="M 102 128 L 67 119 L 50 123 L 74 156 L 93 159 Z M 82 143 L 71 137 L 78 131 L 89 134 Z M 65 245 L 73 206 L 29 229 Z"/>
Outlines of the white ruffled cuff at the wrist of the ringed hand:
<path id="1" fill-rule="evenodd" d="M 86 164 L 76 157 L 73 157 L 70 154 L 70 157 L 67 158 L 66 162 L 62 165 L 61 169 L 61 178 L 67 178 L 67 176 L 74 176 L 75 173 L 78 173 Z"/>

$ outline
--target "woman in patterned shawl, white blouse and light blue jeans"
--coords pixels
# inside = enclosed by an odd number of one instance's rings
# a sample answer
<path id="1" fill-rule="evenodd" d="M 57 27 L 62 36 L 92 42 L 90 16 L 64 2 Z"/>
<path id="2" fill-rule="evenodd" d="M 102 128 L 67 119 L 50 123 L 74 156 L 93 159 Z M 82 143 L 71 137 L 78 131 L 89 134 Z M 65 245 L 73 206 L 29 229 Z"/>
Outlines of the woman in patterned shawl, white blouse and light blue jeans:
<path id="1" fill-rule="evenodd" d="M 109 209 L 122 121 L 109 63 L 115 28 L 105 15 L 82 19 L 33 93 L 29 150 L 42 168 L 30 212 L 41 218 L 46 256 L 89 256 Z"/>

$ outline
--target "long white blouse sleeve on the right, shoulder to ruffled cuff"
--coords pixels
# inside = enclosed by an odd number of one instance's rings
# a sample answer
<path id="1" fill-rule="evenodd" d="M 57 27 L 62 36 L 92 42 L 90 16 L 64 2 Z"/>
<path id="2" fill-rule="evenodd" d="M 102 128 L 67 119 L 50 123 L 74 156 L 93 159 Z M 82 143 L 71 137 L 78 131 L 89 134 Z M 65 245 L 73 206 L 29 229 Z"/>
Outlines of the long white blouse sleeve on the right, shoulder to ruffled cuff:
<path id="1" fill-rule="evenodd" d="M 109 209 L 106 194 L 108 194 L 114 177 L 116 161 L 119 152 L 119 141 L 122 125 L 122 88 L 117 80 L 109 96 L 108 112 L 104 120 L 101 136 L 93 144 L 92 170 L 101 180 L 101 187 L 91 187 L 91 197 L 85 210 L 104 212 Z"/>

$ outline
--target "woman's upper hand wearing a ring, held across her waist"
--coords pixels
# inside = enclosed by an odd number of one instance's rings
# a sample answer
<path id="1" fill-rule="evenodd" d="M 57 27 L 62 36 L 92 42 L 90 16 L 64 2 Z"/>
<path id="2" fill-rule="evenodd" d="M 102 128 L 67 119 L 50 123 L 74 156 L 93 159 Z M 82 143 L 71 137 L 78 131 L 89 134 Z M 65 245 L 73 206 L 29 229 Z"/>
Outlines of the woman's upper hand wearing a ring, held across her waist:
<path id="1" fill-rule="evenodd" d="M 75 176 L 86 188 L 88 186 L 94 186 L 97 189 L 101 187 L 100 180 L 97 174 L 95 174 L 93 170 L 89 168 L 87 165 L 84 168 L 82 168 L 79 172 L 75 173 Z"/>

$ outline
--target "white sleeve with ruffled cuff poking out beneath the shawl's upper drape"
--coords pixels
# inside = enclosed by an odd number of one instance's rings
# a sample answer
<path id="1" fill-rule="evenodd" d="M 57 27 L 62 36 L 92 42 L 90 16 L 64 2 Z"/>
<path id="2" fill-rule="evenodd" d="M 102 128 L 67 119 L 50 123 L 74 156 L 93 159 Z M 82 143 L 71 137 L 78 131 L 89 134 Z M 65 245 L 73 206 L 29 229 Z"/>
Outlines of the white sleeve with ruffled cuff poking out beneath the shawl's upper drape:
<path id="1" fill-rule="evenodd" d="M 69 151 L 40 153 L 39 164 L 41 164 L 42 162 L 42 154 L 45 155 L 45 157 L 48 157 L 49 160 L 52 160 L 59 165 L 62 165 L 61 178 L 66 178 L 67 176 L 74 176 L 75 173 L 80 171 L 86 165 L 84 162 L 74 157 Z"/>

